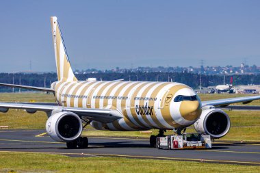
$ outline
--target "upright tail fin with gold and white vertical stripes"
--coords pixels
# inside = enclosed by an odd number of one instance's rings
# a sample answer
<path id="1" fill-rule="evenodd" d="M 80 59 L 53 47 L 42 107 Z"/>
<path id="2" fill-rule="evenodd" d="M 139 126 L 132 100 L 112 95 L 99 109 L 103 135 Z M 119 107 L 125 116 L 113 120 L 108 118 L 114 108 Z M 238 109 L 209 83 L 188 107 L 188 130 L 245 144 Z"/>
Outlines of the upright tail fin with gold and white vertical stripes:
<path id="1" fill-rule="evenodd" d="M 77 81 L 70 66 L 70 61 L 66 52 L 62 31 L 60 30 L 57 17 L 51 17 L 51 31 L 53 35 L 53 46 L 56 59 L 57 79 L 59 81 Z"/>

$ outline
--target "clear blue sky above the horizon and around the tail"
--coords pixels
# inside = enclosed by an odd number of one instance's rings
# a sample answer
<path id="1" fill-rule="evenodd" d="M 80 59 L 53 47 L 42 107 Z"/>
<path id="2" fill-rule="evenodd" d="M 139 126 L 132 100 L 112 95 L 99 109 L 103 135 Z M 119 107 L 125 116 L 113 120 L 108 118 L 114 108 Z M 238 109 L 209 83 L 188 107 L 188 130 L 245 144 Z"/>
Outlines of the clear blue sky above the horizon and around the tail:
<path id="1" fill-rule="evenodd" d="M 50 16 L 73 69 L 260 66 L 260 1 L 4 1 L 0 72 L 55 71 Z M 132 65 L 131 65 L 132 64 Z"/>

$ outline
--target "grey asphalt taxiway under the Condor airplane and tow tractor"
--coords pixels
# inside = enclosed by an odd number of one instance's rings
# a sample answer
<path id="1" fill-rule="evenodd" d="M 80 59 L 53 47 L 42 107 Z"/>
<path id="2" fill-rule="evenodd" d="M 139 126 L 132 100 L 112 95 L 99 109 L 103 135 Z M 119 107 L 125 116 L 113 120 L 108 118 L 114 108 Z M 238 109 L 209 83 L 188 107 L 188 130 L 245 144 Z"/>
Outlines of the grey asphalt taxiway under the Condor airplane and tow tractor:
<path id="1" fill-rule="evenodd" d="M 214 142 L 211 149 L 158 150 L 148 139 L 127 137 L 88 137 L 89 148 L 67 149 L 48 135 L 36 137 L 43 130 L 1 130 L 0 152 L 49 152 L 70 157 L 129 157 L 260 165 L 260 142 Z"/>

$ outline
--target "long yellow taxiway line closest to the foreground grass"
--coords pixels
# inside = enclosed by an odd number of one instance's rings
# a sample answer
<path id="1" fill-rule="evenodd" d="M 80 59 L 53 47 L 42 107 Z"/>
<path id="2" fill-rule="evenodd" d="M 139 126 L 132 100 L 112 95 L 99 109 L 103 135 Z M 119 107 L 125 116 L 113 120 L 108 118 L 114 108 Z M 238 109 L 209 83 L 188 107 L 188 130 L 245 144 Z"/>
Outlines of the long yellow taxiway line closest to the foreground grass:
<path id="1" fill-rule="evenodd" d="M 71 152 L 34 152 L 34 151 L 0 151 L 0 152 L 17 152 L 17 153 L 38 153 L 38 154 L 52 154 L 52 155 L 94 155 L 103 157 L 127 157 L 127 158 L 146 158 L 146 159 L 168 159 L 177 161 L 201 161 L 201 159 L 191 159 L 191 158 L 181 158 L 181 157 L 154 157 L 154 156 L 140 156 L 140 155 L 112 155 L 112 154 L 96 154 L 96 153 L 71 153 Z M 250 161 L 229 161 L 229 160 L 212 160 L 203 159 L 203 162 L 215 162 L 215 163 L 237 163 L 237 164 L 251 164 L 260 165 L 260 162 L 250 162 Z"/>

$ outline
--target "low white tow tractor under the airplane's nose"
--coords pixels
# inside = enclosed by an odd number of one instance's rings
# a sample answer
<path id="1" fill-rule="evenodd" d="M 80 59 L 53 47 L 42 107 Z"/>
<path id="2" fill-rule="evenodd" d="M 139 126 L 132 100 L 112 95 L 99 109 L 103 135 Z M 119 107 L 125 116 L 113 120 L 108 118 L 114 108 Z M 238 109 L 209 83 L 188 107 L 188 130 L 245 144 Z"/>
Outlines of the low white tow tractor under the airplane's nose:
<path id="1" fill-rule="evenodd" d="M 158 149 L 194 149 L 211 148 L 211 137 L 203 133 L 183 133 L 182 135 L 167 135 L 157 137 L 156 148 Z"/>

